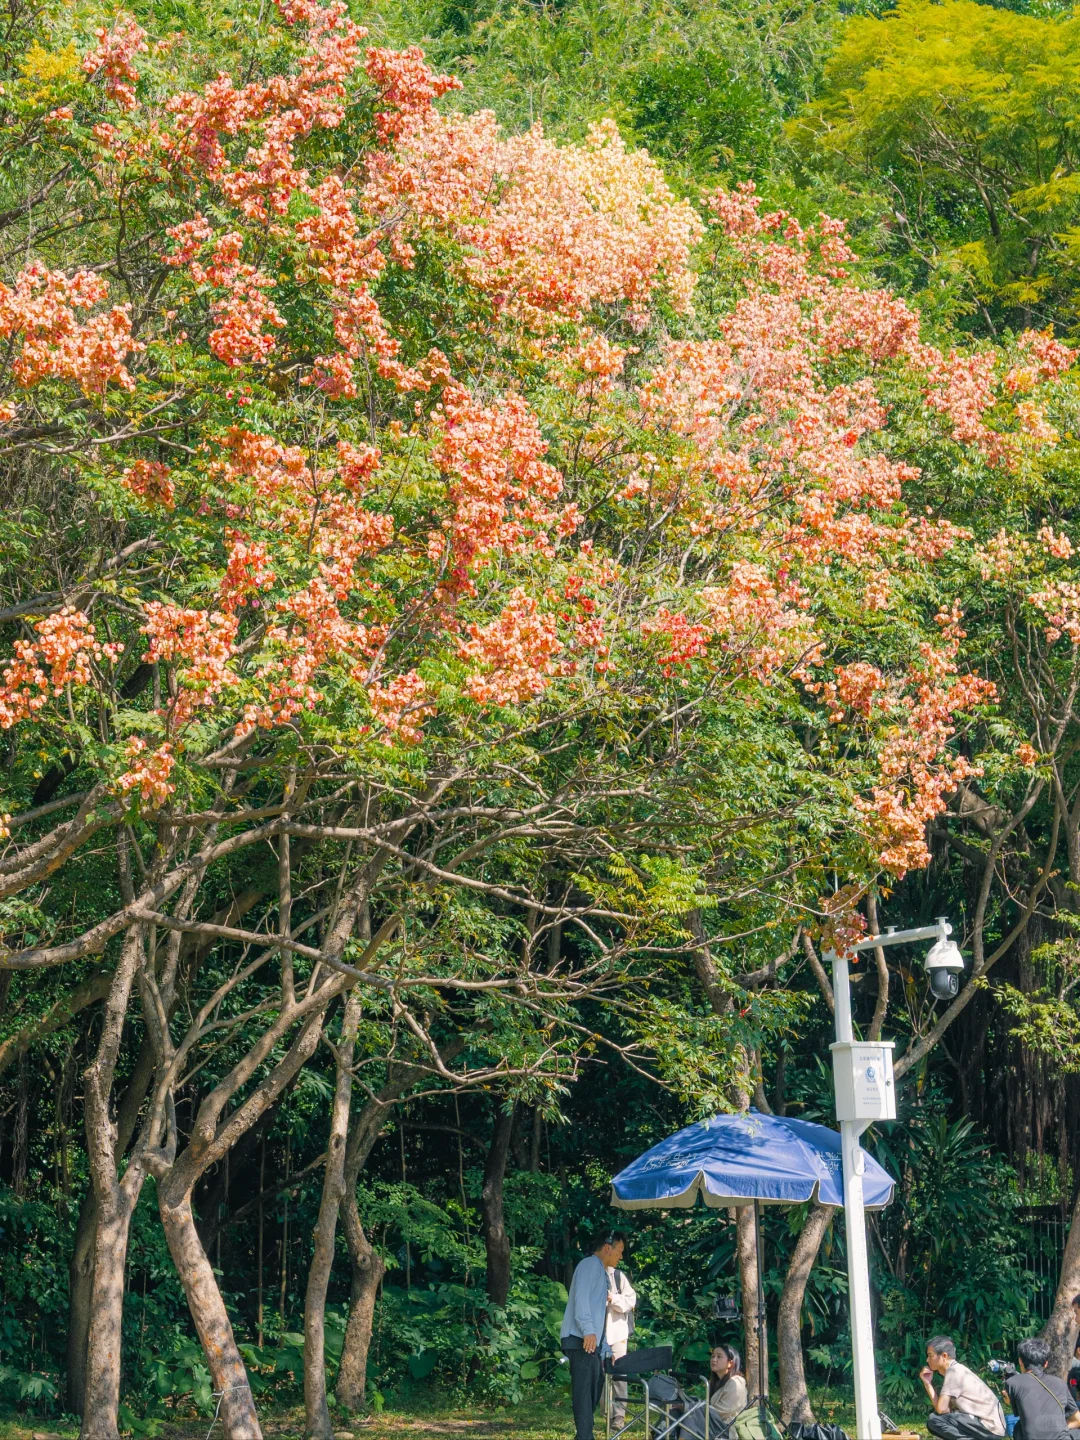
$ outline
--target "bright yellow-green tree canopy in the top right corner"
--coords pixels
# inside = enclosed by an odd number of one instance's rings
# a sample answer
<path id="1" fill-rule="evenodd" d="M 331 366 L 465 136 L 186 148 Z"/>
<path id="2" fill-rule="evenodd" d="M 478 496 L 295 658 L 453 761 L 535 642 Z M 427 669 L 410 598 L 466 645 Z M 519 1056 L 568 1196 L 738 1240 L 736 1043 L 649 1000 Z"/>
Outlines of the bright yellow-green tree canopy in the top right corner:
<path id="1" fill-rule="evenodd" d="M 1077 120 L 1080 17 L 900 0 L 848 22 L 792 138 L 884 189 L 904 240 L 962 274 L 991 323 L 1071 325 Z"/>

